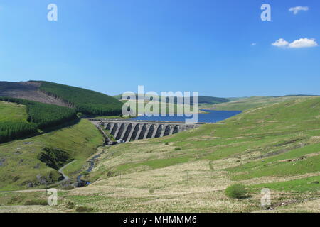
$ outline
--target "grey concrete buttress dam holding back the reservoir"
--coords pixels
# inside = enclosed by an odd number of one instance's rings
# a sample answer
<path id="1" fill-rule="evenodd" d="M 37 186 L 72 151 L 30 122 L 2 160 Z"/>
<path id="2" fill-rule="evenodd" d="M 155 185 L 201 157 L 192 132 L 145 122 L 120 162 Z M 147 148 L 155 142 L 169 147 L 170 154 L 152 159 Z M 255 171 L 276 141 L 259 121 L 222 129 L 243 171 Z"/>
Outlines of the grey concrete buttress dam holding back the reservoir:
<path id="1" fill-rule="evenodd" d="M 105 131 L 109 131 L 114 139 L 129 142 L 147 138 L 159 138 L 172 135 L 192 128 L 198 128 L 202 123 L 186 124 L 183 122 L 170 121 L 130 121 L 130 120 L 107 120 L 90 119 L 97 126 L 102 135 L 105 136 L 106 143 L 110 143 Z"/>

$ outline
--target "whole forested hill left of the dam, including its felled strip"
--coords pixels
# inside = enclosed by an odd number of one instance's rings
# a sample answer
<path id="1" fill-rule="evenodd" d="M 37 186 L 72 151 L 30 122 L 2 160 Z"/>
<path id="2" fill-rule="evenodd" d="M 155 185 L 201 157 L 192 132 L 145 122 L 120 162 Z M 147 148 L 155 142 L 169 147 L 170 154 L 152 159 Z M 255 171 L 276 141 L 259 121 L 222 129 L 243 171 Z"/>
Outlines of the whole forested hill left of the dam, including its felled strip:
<path id="1" fill-rule="evenodd" d="M 0 82 L 0 143 L 36 135 L 63 123 L 72 123 L 77 113 L 119 115 L 122 102 L 111 96 L 51 82 Z M 24 106 L 14 108 L 14 104 Z M 19 113 L 16 113 L 18 111 Z M 4 116 L 7 113 L 6 116 Z M 15 116 L 26 115 L 23 121 Z"/>

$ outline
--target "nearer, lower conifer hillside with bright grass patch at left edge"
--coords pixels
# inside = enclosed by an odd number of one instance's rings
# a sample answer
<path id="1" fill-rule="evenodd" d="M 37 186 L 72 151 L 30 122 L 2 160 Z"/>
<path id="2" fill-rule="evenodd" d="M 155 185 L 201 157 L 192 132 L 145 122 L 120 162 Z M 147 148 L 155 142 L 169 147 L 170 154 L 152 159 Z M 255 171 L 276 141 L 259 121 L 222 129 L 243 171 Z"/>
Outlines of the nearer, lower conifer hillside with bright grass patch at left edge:
<path id="1" fill-rule="evenodd" d="M 31 135 L 77 118 L 75 109 L 0 97 L 0 143 Z"/>

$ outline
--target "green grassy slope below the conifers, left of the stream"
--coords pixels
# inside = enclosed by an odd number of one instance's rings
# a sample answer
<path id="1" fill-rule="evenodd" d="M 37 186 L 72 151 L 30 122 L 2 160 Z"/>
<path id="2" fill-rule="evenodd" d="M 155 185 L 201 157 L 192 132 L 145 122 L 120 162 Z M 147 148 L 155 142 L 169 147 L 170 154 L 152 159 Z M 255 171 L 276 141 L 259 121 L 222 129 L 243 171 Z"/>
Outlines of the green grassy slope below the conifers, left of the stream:
<path id="1" fill-rule="evenodd" d="M 0 190 L 26 189 L 28 182 L 38 182 L 37 175 L 57 180 L 59 175 L 38 160 L 41 148 L 65 150 L 75 160 L 78 167 L 96 152 L 96 147 L 103 142 L 102 135 L 87 120 L 81 120 L 74 126 L 51 133 L 38 135 L 25 140 L 15 140 L 0 145 Z"/>

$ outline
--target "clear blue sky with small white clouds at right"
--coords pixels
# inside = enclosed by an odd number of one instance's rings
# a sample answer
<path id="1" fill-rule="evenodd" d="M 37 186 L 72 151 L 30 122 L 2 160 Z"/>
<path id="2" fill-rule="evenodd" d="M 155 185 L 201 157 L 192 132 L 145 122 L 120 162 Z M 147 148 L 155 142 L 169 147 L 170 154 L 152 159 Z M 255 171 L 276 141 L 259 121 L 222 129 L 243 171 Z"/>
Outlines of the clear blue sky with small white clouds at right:
<path id="1" fill-rule="evenodd" d="M 49 21 L 49 4 L 58 21 Z M 262 21 L 262 4 L 271 21 Z M 50 14 L 51 15 L 51 14 Z M 319 0 L 0 0 L 0 81 L 320 94 Z"/>

